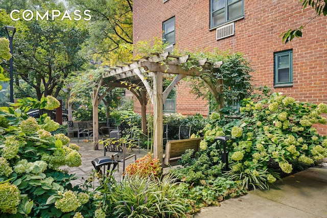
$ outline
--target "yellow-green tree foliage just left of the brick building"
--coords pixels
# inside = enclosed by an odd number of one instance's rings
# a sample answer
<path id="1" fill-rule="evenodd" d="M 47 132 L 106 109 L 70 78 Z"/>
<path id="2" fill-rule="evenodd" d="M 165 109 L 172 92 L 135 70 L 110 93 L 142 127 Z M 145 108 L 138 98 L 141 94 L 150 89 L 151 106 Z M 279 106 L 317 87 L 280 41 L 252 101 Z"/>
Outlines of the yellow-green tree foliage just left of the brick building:
<path id="1" fill-rule="evenodd" d="M 128 62 L 133 52 L 131 0 L 74 0 L 76 8 L 90 10 L 92 23 L 87 53 L 102 65 Z"/>

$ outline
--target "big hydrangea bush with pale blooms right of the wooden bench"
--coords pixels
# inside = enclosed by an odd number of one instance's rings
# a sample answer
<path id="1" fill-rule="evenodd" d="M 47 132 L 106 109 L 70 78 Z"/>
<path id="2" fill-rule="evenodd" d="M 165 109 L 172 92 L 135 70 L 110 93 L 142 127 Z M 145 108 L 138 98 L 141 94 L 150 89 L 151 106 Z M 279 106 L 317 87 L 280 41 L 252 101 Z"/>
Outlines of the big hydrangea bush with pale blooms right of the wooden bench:
<path id="1" fill-rule="evenodd" d="M 177 169 L 180 179 L 203 186 L 213 176 L 225 177 L 245 189 L 268 189 L 281 174 L 320 163 L 327 156 L 327 139 L 315 128 L 326 124 L 327 105 L 266 92 L 244 99 L 240 112 L 239 117 L 218 113 L 209 117 L 200 152 L 195 159 L 185 158 L 188 152 L 182 158 L 184 167 Z M 218 136 L 232 137 L 227 141 L 230 171 L 226 174 L 221 167 L 222 142 L 215 140 Z"/>

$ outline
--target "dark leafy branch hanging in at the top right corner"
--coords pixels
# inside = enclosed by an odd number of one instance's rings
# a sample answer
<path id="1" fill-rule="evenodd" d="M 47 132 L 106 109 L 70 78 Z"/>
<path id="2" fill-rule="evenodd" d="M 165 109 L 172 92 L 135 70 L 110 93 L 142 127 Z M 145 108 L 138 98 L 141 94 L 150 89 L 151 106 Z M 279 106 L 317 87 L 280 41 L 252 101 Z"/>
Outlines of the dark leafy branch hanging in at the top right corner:
<path id="1" fill-rule="evenodd" d="M 316 11 L 316 16 L 314 18 L 320 16 L 321 14 L 323 14 L 323 16 L 327 15 L 327 0 L 300 0 L 300 2 L 302 3 L 303 9 L 307 8 L 309 5 L 309 7 L 311 6 Z M 305 26 L 300 26 L 295 30 L 289 29 L 287 32 L 283 32 L 281 36 L 283 37 L 285 44 L 290 42 L 294 37 L 302 37 L 302 29 Z"/>

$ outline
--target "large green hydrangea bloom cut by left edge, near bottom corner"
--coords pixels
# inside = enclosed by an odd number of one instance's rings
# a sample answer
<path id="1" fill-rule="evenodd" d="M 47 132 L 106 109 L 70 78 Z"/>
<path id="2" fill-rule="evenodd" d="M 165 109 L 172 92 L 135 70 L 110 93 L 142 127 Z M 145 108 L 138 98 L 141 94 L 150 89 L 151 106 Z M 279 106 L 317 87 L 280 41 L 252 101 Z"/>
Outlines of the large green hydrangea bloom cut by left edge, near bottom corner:
<path id="1" fill-rule="evenodd" d="M 0 212 L 16 214 L 17 206 L 20 203 L 17 186 L 8 182 L 0 184 L 0 196 Z"/>

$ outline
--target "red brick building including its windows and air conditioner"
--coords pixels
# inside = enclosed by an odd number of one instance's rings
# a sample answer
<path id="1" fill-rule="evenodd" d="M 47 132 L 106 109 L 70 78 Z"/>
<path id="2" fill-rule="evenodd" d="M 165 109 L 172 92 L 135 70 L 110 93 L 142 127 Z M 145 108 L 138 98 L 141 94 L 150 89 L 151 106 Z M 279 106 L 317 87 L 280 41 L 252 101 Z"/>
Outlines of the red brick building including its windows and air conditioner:
<path id="1" fill-rule="evenodd" d="M 310 21 L 315 16 L 299 0 L 134 0 L 133 41 L 162 37 L 179 50 L 242 52 L 253 85 L 327 103 L 327 17 Z M 302 38 L 282 42 L 282 32 L 306 23 Z M 208 106 L 188 90 L 177 86 L 176 112 L 206 115 Z"/>

